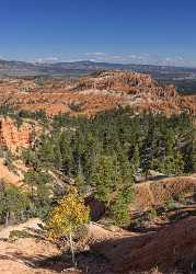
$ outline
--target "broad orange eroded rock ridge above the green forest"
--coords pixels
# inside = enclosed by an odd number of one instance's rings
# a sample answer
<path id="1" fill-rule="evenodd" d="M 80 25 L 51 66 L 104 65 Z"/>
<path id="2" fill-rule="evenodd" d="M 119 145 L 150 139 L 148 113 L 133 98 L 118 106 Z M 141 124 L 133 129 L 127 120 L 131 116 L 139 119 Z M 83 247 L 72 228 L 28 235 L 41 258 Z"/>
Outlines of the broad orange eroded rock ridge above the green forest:
<path id="1" fill-rule="evenodd" d="M 196 114 L 196 96 L 182 96 L 173 85 L 161 87 L 149 75 L 103 71 L 77 80 L 48 79 L 42 87 L 35 80 L 2 80 L 0 106 L 92 116 L 99 112 L 129 105 L 136 113 L 165 115 Z M 79 107 L 78 107 L 79 106 Z"/>

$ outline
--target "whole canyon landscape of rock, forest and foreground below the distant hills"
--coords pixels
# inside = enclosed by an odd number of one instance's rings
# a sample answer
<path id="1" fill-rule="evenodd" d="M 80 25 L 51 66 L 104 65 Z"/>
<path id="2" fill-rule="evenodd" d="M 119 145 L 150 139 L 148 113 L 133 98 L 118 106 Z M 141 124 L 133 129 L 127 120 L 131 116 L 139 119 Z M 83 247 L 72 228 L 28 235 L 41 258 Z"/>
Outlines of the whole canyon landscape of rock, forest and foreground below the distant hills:
<path id="1" fill-rule="evenodd" d="M 196 96 L 119 69 L 0 80 L 0 273 L 196 273 Z"/>

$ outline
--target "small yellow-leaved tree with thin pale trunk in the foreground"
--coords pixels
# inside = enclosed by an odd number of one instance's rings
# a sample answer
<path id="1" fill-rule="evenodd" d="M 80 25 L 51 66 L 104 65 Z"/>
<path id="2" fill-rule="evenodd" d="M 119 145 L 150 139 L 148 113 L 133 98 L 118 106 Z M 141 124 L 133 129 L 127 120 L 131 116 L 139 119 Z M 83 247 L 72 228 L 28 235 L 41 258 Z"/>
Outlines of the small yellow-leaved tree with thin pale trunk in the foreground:
<path id="1" fill-rule="evenodd" d="M 47 222 L 48 236 L 51 239 L 66 237 L 70 244 L 72 262 L 74 260 L 73 235 L 84 224 L 90 220 L 90 209 L 84 205 L 84 201 L 76 190 L 72 190 L 51 210 Z"/>

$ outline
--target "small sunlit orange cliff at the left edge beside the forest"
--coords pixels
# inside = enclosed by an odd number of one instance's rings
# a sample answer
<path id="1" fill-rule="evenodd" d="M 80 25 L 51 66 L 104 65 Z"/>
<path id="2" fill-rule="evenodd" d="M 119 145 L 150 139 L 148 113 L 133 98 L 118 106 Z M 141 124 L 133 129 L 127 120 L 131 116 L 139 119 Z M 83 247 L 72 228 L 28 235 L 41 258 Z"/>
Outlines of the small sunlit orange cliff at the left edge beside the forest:
<path id="1" fill-rule="evenodd" d="M 0 146 L 14 151 L 16 148 L 27 148 L 33 141 L 33 134 L 38 128 L 30 123 L 23 123 L 20 127 L 10 118 L 0 118 Z"/>

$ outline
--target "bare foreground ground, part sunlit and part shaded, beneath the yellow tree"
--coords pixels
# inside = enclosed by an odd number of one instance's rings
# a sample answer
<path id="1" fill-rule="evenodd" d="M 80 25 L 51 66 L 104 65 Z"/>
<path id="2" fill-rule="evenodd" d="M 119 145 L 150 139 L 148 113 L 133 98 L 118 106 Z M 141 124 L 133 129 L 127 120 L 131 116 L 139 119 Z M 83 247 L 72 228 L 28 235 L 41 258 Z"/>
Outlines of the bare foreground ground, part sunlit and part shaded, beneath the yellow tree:
<path id="1" fill-rule="evenodd" d="M 70 256 L 46 240 L 1 240 L 0 273 L 196 273 L 196 217 L 146 233 L 91 224 L 85 247 L 72 267 Z"/>

